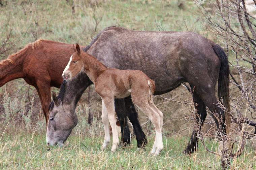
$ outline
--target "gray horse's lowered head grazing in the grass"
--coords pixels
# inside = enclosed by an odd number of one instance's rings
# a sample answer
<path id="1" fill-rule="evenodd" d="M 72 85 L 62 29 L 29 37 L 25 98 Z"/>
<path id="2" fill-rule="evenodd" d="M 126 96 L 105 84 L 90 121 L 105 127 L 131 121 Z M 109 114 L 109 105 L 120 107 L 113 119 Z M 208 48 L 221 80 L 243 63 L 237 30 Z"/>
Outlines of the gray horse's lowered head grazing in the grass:
<path id="1" fill-rule="evenodd" d="M 63 146 L 72 129 L 77 124 L 77 116 L 70 105 L 63 105 L 59 94 L 53 92 L 53 101 L 49 106 L 49 120 L 46 132 L 46 144 Z"/>

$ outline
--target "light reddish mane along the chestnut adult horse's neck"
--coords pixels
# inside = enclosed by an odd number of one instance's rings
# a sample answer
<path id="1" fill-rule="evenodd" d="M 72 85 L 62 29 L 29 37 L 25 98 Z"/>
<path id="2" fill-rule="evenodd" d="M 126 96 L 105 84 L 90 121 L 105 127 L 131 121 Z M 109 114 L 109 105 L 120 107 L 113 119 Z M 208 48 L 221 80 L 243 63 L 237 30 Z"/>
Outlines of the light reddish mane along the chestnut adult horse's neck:
<path id="1" fill-rule="evenodd" d="M 6 60 L 2 60 L 0 65 L 5 65 L 6 61 L 10 62 L 11 64 L 14 64 L 14 58 L 15 56 L 18 56 L 20 54 L 24 54 L 29 47 L 32 47 L 32 49 L 34 49 L 36 46 L 39 45 L 39 42 L 43 41 L 44 39 L 38 39 L 36 40 L 35 42 L 32 42 L 32 43 L 28 43 L 24 48 L 22 48 L 21 50 L 19 50 L 19 52 L 15 53 L 15 54 L 11 54 L 8 56 L 8 58 Z"/>

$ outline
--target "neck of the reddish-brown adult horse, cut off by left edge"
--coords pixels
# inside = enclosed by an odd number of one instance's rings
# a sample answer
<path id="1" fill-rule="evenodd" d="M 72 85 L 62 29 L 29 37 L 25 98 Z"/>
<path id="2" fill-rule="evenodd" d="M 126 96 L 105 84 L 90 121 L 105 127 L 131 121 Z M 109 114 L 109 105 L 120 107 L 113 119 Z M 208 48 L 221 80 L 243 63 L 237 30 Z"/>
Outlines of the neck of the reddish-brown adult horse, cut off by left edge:
<path id="1" fill-rule="evenodd" d="M 18 58 L 15 61 L 7 59 L 0 63 L 0 87 L 16 78 L 24 78 L 25 75 L 22 72 L 23 61 L 23 58 Z"/>

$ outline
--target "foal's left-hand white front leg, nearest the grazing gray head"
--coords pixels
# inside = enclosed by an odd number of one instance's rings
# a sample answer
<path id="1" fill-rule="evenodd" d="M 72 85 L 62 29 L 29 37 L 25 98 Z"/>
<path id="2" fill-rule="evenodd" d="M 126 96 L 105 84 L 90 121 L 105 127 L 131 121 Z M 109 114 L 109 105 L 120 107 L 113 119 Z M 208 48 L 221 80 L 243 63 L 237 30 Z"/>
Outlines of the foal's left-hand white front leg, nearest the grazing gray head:
<path id="1" fill-rule="evenodd" d="M 107 109 L 104 104 L 104 100 L 102 99 L 102 114 L 101 114 L 101 120 L 104 125 L 104 143 L 101 146 L 101 149 L 104 150 L 107 148 L 108 143 L 110 142 L 110 133 L 109 133 L 109 128 L 108 128 L 108 116 L 107 116 Z"/>

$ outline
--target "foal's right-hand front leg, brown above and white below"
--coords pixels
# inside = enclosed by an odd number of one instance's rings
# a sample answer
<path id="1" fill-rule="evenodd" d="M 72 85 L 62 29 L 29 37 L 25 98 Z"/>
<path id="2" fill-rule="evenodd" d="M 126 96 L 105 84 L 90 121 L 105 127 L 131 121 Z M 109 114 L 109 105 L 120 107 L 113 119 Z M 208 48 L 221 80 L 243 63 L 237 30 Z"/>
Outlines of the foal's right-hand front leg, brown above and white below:
<path id="1" fill-rule="evenodd" d="M 113 145 L 112 145 L 111 151 L 114 152 L 117 149 L 119 144 L 118 132 L 117 132 L 117 119 L 116 119 L 116 113 L 115 113 L 115 100 L 114 98 L 113 99 L 103 98 L 103 100 L 107 109 L 108 120 L 112 128 Z"/>

